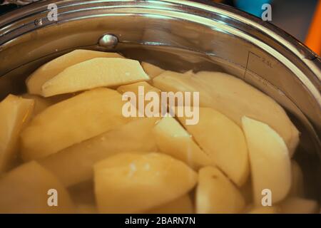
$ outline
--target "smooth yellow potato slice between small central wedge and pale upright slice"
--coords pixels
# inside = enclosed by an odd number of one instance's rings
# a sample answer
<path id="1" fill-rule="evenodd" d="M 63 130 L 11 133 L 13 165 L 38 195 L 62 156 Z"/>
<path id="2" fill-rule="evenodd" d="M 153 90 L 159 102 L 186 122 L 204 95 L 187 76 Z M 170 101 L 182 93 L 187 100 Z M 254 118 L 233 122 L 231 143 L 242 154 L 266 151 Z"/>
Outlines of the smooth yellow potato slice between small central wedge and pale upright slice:
<path id="1" fill-rule="evenodd" d="M 178 117 L 178 120 L 215 164 L 236 185 L 242 186 L 249 175 L 248 148 L 242 130 L 213 108 L 200 108 L 199 114 L 195 125 L 185 124 L 185 117 Z"/>

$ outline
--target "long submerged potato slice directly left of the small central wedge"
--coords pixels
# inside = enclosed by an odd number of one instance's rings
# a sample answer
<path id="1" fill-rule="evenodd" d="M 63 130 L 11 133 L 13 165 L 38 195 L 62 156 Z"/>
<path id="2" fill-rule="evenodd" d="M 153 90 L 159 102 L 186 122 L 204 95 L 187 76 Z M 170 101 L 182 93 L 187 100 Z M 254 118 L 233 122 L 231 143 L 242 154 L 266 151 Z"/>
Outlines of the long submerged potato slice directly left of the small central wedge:
<path id="1" fill-rule="evenodd" d="M 159 118 L 138 118 L 107 133 L 98 135 L 39 162 L 54 173 L 63 185 L 91 180 L 93 165 L 119 152 L 157 150 L 152 130 Z"/>

